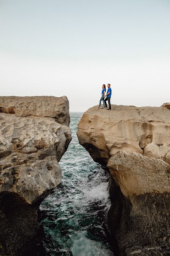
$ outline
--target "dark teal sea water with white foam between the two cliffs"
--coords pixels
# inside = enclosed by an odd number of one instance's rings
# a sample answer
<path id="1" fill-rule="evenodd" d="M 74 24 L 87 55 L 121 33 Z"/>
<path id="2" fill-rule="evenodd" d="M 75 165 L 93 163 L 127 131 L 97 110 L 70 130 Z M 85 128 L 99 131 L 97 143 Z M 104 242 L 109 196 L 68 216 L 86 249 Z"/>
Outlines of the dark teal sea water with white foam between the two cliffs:
<path id="1" fill-rule="evenodd" d="M 81 116 L 71 113 L 72 141 L 59 162 L 62 183 L 40 206 L 48 256 L 113 256 L 105 221 L 110 207 L 108 175 L 79 145 Z"/>

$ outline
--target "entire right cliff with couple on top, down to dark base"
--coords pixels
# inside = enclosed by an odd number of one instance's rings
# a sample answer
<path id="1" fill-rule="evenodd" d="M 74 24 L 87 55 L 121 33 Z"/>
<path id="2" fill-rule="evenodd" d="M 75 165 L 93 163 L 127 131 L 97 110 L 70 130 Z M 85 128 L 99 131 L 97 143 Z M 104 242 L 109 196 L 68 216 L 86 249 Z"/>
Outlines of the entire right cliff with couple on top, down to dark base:
<path id="1" fill-rule="evenodd" d="M 110 170 L 115 255 L 170 255 L 170 103 L 90 108 L 77 135 L 94 161 Z"/>

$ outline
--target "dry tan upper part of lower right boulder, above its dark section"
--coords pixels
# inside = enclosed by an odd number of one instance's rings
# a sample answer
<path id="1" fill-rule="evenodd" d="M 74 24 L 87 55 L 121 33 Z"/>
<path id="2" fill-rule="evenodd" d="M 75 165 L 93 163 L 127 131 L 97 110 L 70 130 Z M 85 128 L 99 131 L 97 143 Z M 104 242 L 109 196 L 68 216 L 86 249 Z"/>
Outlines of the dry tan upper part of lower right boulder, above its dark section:
<path id="1" fill-rule="evenodd" d="M 107 167 L 127 198 L 170 193 L 170 165 L 162 160 L 119 151 L 109 159 Z"/>

